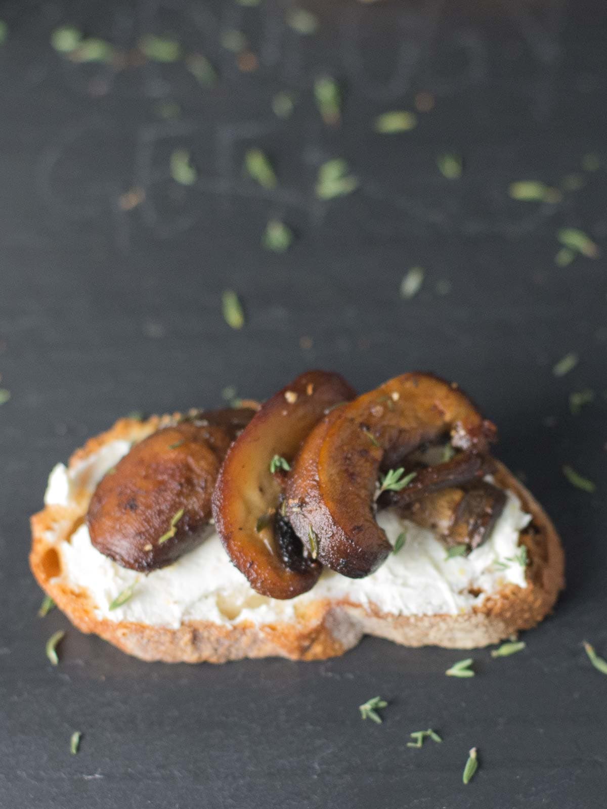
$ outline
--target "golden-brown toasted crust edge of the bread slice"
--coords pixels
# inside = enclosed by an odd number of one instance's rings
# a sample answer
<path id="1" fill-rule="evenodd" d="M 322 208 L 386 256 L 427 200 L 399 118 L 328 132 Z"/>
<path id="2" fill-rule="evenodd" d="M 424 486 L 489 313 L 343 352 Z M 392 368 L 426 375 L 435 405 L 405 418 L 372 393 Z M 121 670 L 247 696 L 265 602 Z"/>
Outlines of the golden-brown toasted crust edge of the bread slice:
<path id="1" fill-rule="evenodd" d="M 140 440 L 169 423 L 171 417 L 147 421 L 121 419 L 111 430 L 91 438 L 70 459 L 79 464 L 105 444 L 119 438 Z M 564 586 L 564 558 L 550 519 L 527 489 L 499 464 L 496 481 L 520 498 L 533 521 L 521 540 L 528 549 L 527 587 L 509 584 L 496 595 L 461 615 L 395 616 L 347 600 L 319 599 L 299 609 L 295 622 L 231 625 L 187 621 L 178 629 L 108 621 L 96 616 L 90 595 L 62 576 L 57 538 L 69 540 L 83 522 L 89 493 L 80 493 L 74 506 L 46 506 L 32 517 L 30 566 L 40 587 L 70 621 L 86 633 L 96 633 L 119 649 L 143 660 L 167 663 L 225 663 L 245 657 L 287 657 L 321 660 L 343 654 L 364 634 L 386 637 L 404 646 L 446 646 L 472 649 L 497 643 L 521 629 L 530 629 L 554 607 Z M 49 536 L 52 533 L 54 540 Z"/>

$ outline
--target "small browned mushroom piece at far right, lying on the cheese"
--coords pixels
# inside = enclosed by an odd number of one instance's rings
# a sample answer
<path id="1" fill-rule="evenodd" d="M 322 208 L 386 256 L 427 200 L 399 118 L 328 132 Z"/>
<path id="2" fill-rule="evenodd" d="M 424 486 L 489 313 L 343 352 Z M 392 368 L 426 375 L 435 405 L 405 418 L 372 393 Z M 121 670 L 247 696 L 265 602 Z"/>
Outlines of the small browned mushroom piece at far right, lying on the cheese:
<path id="1" fill-rule="evenodd" d="M 485 542 L 506 505 L 506 493 L 486 481 L 428 494 L 398 512 L 434 531 L 450 548 L 465 544 L 470 550 Z"/>

